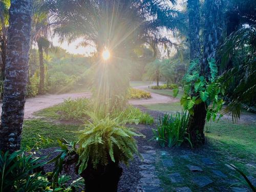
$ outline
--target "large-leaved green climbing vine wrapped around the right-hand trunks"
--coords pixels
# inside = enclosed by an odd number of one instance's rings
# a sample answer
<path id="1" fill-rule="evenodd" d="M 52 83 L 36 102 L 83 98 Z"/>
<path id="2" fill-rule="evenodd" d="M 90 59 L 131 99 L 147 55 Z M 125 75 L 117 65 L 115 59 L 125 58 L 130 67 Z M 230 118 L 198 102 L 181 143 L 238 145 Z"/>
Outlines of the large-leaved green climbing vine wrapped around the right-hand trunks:
<path id="1" fill-rule="evenodd" d="M 184 76 L 184 95 L 181 98 L 181 105 L 188 110 L 190 115 L 194 114 L 193 106 L 195 104 L 205 103 L 207 110 L 207 121 L 215 120 L 218 112 L 220 112 L 224 101 L 223 96 L 224 85 L 223 80 L 226 75 L 217 77 L 218 69 L 213 58 L 208 60 L 210 75 L 209 77 L 200 76 L 200 66 L 198 60 L 191 61 L 188 72 Z M 178 90 L 177 90 L 178 91 Z M 219 115 L 219 118 L 222 114 Z"/>

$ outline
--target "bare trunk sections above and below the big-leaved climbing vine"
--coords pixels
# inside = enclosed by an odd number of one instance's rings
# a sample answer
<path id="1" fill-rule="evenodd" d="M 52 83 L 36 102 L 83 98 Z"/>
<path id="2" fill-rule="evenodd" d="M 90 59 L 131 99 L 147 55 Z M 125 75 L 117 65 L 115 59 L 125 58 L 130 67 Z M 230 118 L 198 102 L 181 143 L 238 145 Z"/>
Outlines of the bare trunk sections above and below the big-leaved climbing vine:
<path id="1" fill-rule="evenodd" d="M 188 19 L 189 19 L 189 42 L 190 59 L 199 59 L 201 53 L 200 46 L 200 10 L 199 0 L 188 0 Z M 200 65 L 200 63 L 199 63 Z M 205 103 L 202 102 L 193 107 L 194 114 L 190 115 L 188 120 L 187 133 L 193 146 L 204 144 L 204 125 L 205 125 Z"/>

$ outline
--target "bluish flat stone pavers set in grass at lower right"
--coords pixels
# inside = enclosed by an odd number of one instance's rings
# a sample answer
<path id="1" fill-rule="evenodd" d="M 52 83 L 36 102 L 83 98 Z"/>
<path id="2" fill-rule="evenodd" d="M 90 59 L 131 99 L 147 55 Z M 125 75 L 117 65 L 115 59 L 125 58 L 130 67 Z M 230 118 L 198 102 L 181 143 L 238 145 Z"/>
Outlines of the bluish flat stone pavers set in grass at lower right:
<path id="1" fill-rule="evenodd" d="M 250 191 L 247 186 L 227 187 L 237 180 L 218 170 L 217 163 L 208 157 L 198 157 L 200 155 L 193 153 L 181 154 L 177 162 L 174 160 L 175 155 L 170 155 L 166 151 L 154 150 L 150 146 L 143 148 L 143 161 L 139 166 L 141 179 L 137 187 L 139 192 Z M 179 173 L 179 167 L 183 170 L 183 175 Z M 162 175 L 166 177 L 163 179 Z M 249 180 L 256 182 L 252 176 Z"/>

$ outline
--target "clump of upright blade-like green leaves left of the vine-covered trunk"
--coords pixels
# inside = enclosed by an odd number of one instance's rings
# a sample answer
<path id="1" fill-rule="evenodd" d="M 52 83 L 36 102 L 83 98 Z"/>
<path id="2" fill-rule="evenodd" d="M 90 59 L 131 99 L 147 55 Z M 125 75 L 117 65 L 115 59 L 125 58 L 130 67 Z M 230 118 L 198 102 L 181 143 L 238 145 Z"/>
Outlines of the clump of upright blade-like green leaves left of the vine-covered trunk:
<path id="1" fill-rule="evenodd" d="M 165 114 L 159 118 L 159 125 L 157 130 L 153 129 L 153 139 L 162 146 L 172 147 L 174 145 L 180 146 L 186 139 L 189 143 L 189 137 L 186 137 L 186 129 L 189 116 L 186 112 L 176 113 L 176 116 Z M 191 144 L 191 143 L 190 143 Z"/>

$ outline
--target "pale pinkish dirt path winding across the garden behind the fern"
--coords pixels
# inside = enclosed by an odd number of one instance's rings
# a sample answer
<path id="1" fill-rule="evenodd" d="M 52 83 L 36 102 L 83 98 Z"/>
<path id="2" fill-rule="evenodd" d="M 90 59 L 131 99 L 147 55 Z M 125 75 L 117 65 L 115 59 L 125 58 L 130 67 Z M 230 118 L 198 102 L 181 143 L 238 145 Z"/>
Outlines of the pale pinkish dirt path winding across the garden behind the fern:
<path id="1" fill-rule="evenodd" d="M 148 86 L 139 86 L 135 87 L 136 89 L 145 89 Z M 64 99 L 76 99 L 81 97 L 91 97 L 90 92 L 84 92 L 84 93 L 66 93 L 66 94 L 60 94 L 60 95 L 40 95 L 34 98 L 28 98 L 25 104 L 25 119 L 31 119 L 33 118 L 33 113 L 45 108 L 49 108 L 50 106 L 59 104 L 63 102 Z M 168 103 L 168 102 L 176 102 L 177 99 L 170 98 L 168 96 L 159 95 L 156 93 L 151 93 L 152 98 L 150 99 L 137 99 L 137 100 L 130 100 L 130 104 L 154 104 L 154 103 Z M 2 103 L 0 104 L 0 113 L 2 113 Z"/>

